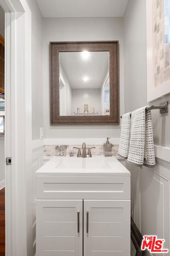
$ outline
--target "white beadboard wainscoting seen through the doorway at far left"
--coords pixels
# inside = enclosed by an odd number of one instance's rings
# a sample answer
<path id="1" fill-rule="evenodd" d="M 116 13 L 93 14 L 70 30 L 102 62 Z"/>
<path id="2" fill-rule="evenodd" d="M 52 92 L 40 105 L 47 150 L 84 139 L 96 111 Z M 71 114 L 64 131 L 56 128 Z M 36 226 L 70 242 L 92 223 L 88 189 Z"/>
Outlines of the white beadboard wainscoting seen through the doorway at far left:
<path id="1" fill-rule="evenodd" d="M 5 187 L 5 140 L 0 137 L 0 190 Z"/>

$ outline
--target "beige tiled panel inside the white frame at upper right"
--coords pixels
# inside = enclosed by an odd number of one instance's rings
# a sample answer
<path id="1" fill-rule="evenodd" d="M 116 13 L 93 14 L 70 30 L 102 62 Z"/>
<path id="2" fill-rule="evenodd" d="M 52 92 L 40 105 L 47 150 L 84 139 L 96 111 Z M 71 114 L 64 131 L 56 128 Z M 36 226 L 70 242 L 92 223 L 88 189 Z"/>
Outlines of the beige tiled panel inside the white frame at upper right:
<path id="1" fill-rule="evenodd" d="M 153 0 L 154 87 L 170 79 L 170 0 Z"/>

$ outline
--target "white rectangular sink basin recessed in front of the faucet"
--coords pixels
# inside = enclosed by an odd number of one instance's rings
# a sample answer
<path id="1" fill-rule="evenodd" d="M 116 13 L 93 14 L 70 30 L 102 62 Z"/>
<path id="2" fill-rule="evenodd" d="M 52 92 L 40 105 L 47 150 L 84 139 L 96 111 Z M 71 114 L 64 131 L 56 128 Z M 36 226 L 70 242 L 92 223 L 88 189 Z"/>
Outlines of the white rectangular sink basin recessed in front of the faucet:
<path id="1" fill-rule="evenodd" d="M 100 158 L 65 158 L 62 159 L 57 169 L 110 169 L 106 159 Z"/>

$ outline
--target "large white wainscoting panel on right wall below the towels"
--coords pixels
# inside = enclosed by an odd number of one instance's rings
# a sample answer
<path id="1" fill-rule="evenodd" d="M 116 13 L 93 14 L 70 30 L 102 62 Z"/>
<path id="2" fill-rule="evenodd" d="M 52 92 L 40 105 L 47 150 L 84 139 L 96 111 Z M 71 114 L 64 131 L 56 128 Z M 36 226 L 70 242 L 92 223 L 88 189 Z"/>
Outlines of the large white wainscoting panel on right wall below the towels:
<path id="1" fill-rule="evenodd" d="M 141 233 L 165 239 L 165 248 L 170 248 L 169 181 L 151 168 L 143 167 L 140 172 Z"/>

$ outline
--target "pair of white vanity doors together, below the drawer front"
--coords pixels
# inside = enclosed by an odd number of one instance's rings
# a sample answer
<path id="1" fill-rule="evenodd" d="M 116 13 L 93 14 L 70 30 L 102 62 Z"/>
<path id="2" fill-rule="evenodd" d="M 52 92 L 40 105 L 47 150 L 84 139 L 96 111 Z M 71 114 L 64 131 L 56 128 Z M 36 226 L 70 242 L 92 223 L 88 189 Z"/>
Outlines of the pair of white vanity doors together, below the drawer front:
<path id="1" fill-rule="evenodd" d="M 128 212 L 129 200 L 37 200 L 36 255 L 128 255 Z"/>

